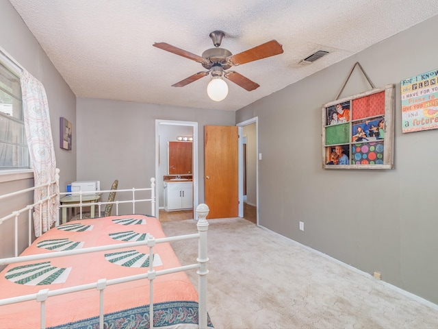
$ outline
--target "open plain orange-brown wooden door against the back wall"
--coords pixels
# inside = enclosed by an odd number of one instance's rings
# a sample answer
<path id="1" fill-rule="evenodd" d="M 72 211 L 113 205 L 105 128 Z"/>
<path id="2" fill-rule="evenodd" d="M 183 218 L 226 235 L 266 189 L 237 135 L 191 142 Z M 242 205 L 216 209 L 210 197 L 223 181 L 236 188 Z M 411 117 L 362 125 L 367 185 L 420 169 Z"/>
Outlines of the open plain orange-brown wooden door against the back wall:
<path id="1" fill-rule="evenodd" d="M 204 184 L 208 219 L 239 215 L 238 132 L 235 126 L 205 125 Z"/>

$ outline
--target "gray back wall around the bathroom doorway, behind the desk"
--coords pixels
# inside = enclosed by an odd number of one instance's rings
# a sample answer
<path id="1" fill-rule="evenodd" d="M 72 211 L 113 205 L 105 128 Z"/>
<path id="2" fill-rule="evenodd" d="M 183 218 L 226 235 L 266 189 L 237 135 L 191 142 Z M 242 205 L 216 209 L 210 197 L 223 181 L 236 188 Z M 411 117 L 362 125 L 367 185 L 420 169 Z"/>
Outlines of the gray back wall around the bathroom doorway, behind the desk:
<path id="1" fill-rule="evenodd" d="M 107 186 L 117 177 L 120 188 L 144 187 L 155 177 L 156 119 L 197 122 L 199 203 L 203 203 L 203 126 L 234 125 L 235 112 L 78 98 L 76 119 L 77 179 L 100 180 Z"/>

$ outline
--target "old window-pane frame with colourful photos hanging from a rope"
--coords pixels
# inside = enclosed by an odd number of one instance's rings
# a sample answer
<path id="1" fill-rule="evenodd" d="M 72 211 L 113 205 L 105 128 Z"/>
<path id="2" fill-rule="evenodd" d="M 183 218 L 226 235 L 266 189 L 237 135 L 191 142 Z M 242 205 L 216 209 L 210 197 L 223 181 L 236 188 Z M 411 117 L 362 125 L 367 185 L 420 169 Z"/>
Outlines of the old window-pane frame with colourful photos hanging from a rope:
<path id="1" fill-rule="evenodd" d="M 322 106 L 324 169 L 393 169 L 395 85 Z"/>

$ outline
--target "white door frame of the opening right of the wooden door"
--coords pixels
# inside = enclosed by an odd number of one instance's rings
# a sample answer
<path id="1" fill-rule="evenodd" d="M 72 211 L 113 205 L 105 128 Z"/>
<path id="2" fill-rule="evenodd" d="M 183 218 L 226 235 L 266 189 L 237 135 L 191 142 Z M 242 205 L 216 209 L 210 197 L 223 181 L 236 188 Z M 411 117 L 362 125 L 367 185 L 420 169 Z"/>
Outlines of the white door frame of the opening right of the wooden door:
<path id="1" fill-rule="evenodd" d="M 239 127 L 239 217 L 244 217 L 244 155 L 243 155 L 243 143 L 244 138 L 243 127 L 255 123 L 255 153 L 257 155 L 257 161 L 255 162 L 255 193 L 256 193 L 256 217 L 257 226 L 259 226 L 259 117 L 253 117 L 246 121 L 237 123 Z"/>

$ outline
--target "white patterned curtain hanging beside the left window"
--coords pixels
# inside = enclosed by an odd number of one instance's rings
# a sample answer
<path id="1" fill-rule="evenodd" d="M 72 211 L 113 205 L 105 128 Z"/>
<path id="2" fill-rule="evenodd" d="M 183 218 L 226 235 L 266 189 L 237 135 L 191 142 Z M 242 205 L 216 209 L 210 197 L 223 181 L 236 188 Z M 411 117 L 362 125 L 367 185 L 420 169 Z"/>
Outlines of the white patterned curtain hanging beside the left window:
<path id="1" fill-rule="evenodd" d="M 49 105 L 44 86 L 25 70 L 21 75 L 21 92 L 23 93 L 27 146 L 29 147 L 31 167 L 34 169 L 34 184 L 37 186 L 55 180 L 56 160 Z M 56 221 L 60 202 L 57 190 L 59 190 L 59 186 L 56 184 L 51 189 L 51 193 L 57 193 L 58 197 L 55 200 L 52 199 L 50 206 L 44 202 L 41 206 L 36 206 L 34 210 L 36 236 L 40 236 L 40 232 L 49 230 Z M 47 197 L 47 188 L 35 190 L 34 202 L 38 202 L 44 197 Z M 42 227 L 40 227 L 40 215 L 42 215 Z"/>

